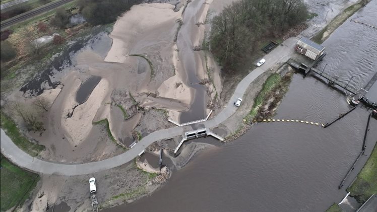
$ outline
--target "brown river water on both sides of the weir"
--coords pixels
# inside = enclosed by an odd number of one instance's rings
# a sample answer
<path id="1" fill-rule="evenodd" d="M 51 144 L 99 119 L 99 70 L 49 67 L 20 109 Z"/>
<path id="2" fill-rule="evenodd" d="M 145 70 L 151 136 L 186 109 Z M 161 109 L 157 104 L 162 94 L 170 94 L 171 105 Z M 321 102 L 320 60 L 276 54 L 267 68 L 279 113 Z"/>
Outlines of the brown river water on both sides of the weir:
<path id="1" fill-rule="evenodd" d="M 375 11 L 373 0 L 350 19 L 377 26 Z M 328 63 L 325 72 L 344 82 L 354 76 L 350 86 L 360 88 L 377 72 L 377 30 L 350 19 L 323 43 L 328 54 L 318 68 Z M 367 97 L 377 101 L 376 83 Z M 326 123 L 349 109 L 342 92 L 295 74 L 275 117 Z M 369 113 L 356 108 L 327 128 L 258 123 L 234 142 L 198 153 L 152 195 L 104 211 L 325 211 L 346 195 L 376 143 L 377 130 L 370 130 L 367 156 L 338 189 L 361 151 Z"/>

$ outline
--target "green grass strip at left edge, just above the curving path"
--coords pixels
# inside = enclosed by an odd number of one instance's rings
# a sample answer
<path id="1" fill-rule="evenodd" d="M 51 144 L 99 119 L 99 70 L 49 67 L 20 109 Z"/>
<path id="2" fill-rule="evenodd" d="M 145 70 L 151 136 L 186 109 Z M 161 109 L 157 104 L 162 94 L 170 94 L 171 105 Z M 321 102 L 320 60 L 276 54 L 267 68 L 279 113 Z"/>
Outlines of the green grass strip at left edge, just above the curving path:
<path id="1" fill-rule="evenodd" d="M 29 155 L 35 157 L 38 156 L 40 152 L 45 150 L 45 146 L 35 144 L 30 142 L 26 137 L 24 137 L 20 130 L 17 128 L 16 123 L 3 113 L 1 114 L 1 126 L 5 133 L 12 139 L 13 143 L 17 145 L 21 150 L 28 153 Z"/>

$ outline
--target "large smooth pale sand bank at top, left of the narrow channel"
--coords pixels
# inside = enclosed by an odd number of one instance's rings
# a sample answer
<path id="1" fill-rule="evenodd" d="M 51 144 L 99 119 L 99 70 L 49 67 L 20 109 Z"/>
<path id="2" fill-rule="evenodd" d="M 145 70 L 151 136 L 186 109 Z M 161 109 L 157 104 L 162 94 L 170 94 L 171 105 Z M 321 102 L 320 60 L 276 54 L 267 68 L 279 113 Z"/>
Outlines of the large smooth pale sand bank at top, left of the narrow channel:
<path id="1" fill-rule="evenodd" d="M 161 37 L 161 35 L 165 34 L 162 33 L 166 28 L 165 25 L 174 25 L 175 20 L 180 15 L 173 10 L 174 6 L 170 4 L 133 6 L 129 12 L 116 21 L 110 34 L 113 39 L 112 47 L 107 53 L 105 61 L 124 62 L 130 52 L 147 44 L 141 43 L 141 40 L 164 41 L 166 38 Z"/>

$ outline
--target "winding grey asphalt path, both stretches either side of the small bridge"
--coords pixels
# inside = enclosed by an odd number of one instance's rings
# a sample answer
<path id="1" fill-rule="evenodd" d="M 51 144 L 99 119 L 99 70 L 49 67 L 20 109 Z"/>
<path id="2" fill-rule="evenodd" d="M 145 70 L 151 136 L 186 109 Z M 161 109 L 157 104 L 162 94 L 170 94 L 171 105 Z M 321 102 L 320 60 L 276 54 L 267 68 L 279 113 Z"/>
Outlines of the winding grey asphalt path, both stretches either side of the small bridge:
<path id="1" fill-rule="evenodd" d="M 265 64 L 254 69 L 251 73 L 249 73 L 245 78 L 242 79 L 242 81 L 237 85 L 237 88 L 235 89 L 226 107 L 214 118 L 205 121 L 205 126 L 207 128 L 215 127 L 232 116 L 237 109 L 233 105 L 233 102 L 237 98 L 242 97 L 250 83 L 257 79 L 261 74 L 266 72 L 266 70 L 268 70 L 278 62 L 287 61 L 294 53 L 294 46 L 296 42 L 297 38 L 289 38 L 285 40 L 282 45 L 278 46 L 276 49 L 266 55 L 264 57 L 266 59 Z M 48 162 L 31 157 L 30 155 L 19 149 L 8 137 L 8 135 L 5 134 L 4 130 L 1 129 L 1 152 L 14 164 L 33 172 L 38 172 L 41 174 L 74 176 L 91 174 L 120 166 L 136 158 L 140 152 L 142 152 L 146 147 L 156 142 L 157 140 L 167 139 L 182 134 L 182 127 L 173 127 L 169 129 L 158 130 L 143 137 L 143 139 L 141 139 L 140 142 L 137 143 L 132 149 L 112 158 L 84 164 L 59 164 L 56 162 Z"/>

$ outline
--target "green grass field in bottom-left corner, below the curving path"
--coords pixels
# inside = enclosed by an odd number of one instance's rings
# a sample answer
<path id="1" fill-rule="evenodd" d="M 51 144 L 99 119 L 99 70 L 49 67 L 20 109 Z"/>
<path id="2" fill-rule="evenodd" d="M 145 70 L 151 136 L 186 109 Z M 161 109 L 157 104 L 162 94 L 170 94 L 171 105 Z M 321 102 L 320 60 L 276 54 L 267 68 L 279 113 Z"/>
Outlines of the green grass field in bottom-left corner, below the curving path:
<path id="1" fill-rule="evenodd" d="M 0 210 L 6 211 L 22 204 L 29 197 L 39 176 L 11 164 L 3 155 L 1 156 L 1 167 Z"/>

